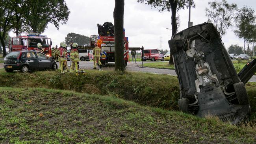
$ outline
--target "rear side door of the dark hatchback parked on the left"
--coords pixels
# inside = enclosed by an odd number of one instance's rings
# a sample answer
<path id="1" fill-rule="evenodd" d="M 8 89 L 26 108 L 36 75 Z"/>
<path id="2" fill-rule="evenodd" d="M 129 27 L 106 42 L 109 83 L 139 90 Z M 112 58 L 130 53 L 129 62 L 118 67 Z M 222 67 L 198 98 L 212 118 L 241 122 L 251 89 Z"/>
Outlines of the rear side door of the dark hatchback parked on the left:
<path id="1" fill-rule="evenodd" d="M 38 58 L 35 52 L 24 52 L 21 55 L 22 59 L 25 59 L 26 63 L 30 66 L 31 69 L 35 69 L 38 66 Z"/>

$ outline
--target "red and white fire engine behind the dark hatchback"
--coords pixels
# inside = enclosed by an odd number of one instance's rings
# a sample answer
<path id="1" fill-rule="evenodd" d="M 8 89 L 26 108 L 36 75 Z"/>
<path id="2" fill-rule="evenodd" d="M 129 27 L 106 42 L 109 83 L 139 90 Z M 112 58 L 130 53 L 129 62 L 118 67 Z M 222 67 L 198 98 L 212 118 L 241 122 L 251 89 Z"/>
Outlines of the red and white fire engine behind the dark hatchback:
<path id="1" fill-rule="evenodd" d="M 22 50 L 37 51 L 37 43 L 42 44 L 42 49 L 47 56 L 52 56 L 51 39 L 46 37 L 46 35 L 39 35 L 39 33 L 30 33 L 11 38 L 11 41 L 9 41 L 9 50 L 11 52 Z"/>

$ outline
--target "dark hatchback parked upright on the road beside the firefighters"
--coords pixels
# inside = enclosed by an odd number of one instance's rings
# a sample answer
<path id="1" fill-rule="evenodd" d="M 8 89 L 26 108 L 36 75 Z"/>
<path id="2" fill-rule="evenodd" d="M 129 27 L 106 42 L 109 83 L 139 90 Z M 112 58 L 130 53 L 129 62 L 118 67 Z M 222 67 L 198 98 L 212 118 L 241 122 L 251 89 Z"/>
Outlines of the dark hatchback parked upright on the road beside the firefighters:
<path id="1" fill-rule="evenodd" d="M 28 72 L 35 69 L 58 69 L 56 61 L 51 57 L 38 51 L 15 51 L 10 52 L 4 57 L 4 69 L 6 72 L 20 70 Z"/>

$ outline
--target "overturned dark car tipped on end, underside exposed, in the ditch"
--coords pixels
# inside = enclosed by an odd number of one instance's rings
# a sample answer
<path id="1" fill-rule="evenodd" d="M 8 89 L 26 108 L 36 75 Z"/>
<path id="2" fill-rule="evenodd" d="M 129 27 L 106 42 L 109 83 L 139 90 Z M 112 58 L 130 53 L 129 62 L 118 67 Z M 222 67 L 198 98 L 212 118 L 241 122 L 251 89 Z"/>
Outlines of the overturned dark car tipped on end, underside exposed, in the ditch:
<path id="1" fill-rule="evenodd" d="M 245 85 L 213 24 L 180 31 L 169 40 L 169 47 L 180 83 L 180 111 L 218 116 L 232 124 L 248 116 Z"/>

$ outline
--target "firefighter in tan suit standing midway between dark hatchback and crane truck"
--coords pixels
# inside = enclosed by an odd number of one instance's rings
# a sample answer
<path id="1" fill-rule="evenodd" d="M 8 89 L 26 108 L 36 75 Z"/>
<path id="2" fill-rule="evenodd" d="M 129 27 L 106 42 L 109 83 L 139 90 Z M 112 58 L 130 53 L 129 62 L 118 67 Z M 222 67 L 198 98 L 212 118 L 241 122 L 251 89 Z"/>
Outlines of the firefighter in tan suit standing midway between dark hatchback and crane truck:
<path id="1" fill-rule="evenodd" d="M 71 47 L 70 59 L 72 61 L 70 72 L 78 72 L 79 54 L 78 54 L 77 46 L 78 44 L 76 42 L 74 42 L 72 45 L 70 44 L 70 47 Z"/>

